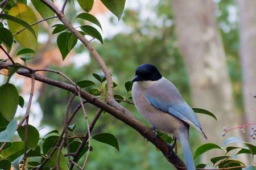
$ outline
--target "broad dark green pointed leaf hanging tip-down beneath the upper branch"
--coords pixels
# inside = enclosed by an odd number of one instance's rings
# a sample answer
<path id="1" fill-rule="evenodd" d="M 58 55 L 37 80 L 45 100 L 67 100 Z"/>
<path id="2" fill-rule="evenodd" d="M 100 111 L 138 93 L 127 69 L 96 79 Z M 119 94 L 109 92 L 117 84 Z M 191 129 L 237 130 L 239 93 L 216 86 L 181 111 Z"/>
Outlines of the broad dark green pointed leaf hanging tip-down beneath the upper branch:
<path id="1" fill-rule="evenodd" d="M 64 60 L 76 45 L 77 37 L 70 32 L 63 32 L 57 37 L 57 45 Z"/>

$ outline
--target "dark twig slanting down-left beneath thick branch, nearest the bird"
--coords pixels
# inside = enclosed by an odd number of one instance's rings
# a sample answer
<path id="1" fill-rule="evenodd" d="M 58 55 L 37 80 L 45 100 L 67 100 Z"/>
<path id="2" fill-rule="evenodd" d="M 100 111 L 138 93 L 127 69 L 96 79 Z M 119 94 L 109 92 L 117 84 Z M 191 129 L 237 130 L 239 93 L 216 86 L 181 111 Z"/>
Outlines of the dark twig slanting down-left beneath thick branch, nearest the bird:
<path id="1" fill-rule="evenodd" d="M 94 125 L 95 125 L 96 122 L 98 121 L 98 118 L 100 118 L 102 112 L 103 112 L 102 109 L 98 109 L 98 111 L 97 111 L 95 117 L 93 118 L 92 122 L 90 123 L 90 126 L 89 126 L 90 132 L 92 132 L 92 129 L 94 128 Z M 77 162 L 77 158 L 78 158 L 78 156 L 79 156 L 79 154 L 80 154 L 82 148 L 84 148 L 84 146 L 86 145 L 86 142 L 87 142 L 87 140 L 88 140 L 88 137 L 89 137 L 89 135 L 88 135 L 88 131 L 87 131 L 87 133 L 86 133 L 85 136 L 84 136 L 84 139 L 82 139 L 81 145 L 79 146 L 79 148 L 77 148 L 75 154 L 73 155 L 73 162 Z M 73 166 L 74 166 L 74 165 L 71 164 L 70 170 L 73 169 Z"/>

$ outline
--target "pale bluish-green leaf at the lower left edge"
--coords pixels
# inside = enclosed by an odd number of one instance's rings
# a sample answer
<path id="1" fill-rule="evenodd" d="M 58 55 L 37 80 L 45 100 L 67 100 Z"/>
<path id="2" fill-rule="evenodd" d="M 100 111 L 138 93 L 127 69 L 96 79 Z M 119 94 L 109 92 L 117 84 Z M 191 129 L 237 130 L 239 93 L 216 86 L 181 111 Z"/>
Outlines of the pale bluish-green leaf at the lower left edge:
<path id="1" fill-rule="evenodd" d="M 7 128 L 0 132 L 0 142 L 11 142 L 13 141 L 13 136 L 17 128 L 17 121 L 13 120 L 8 125 Z"/>

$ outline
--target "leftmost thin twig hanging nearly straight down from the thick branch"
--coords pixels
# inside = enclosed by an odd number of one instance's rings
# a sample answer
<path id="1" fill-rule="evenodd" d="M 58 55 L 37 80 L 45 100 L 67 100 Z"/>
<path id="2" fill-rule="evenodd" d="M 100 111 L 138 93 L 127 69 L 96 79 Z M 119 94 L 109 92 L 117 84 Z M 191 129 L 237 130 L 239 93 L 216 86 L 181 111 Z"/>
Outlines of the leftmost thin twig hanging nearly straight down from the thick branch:
<path id="1" fill-rule="evenodd" d="M 27 161 L 27 135 L 28 135 L 28 119 L 30 117 L 30 108 L 32 104 L 32 99 L 34 95 L 34 87 L 35 87 L 35 76 L 34 73 L 31 74 L 31 90 L 30 90 L 30 99 L 28 99 L 27 111 L 25 114 L 26 122 L 25 122 L 25 138 L 24 138 L 24 157 L 23 157 L 23 167 L 22 170 L 25 169 L 25 164 Z"/>

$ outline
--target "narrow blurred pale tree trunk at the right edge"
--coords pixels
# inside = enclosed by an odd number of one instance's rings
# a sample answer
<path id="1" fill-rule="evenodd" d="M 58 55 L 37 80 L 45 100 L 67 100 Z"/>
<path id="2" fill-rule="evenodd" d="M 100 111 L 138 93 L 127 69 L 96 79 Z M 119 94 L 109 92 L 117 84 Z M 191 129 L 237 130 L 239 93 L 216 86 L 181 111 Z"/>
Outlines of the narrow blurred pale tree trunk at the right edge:
<path id="1" fill-rule="evenodd" d="M 256 121 L 256 1 L 237 1 L 240 12 L 240 58 L 243 71 L 245 121 Z M 247 128 L 247 133 L 250 128 Z M 250 142 L 253 139 L 247 135 Z M 254 141 L 255 142 L 255 141 Z"/>

